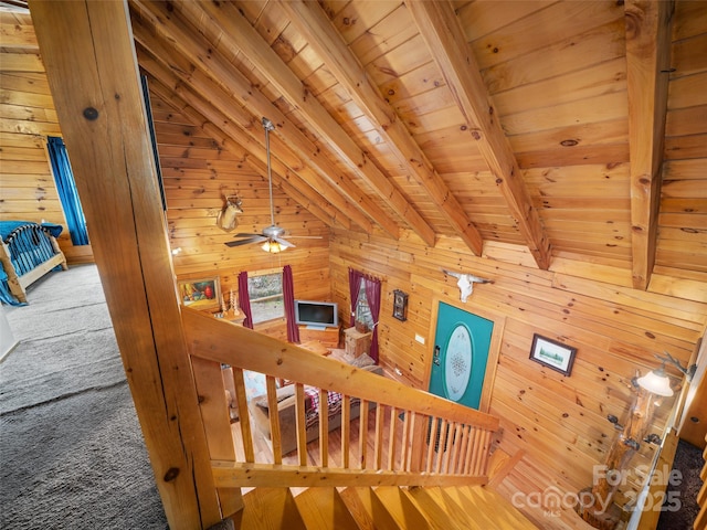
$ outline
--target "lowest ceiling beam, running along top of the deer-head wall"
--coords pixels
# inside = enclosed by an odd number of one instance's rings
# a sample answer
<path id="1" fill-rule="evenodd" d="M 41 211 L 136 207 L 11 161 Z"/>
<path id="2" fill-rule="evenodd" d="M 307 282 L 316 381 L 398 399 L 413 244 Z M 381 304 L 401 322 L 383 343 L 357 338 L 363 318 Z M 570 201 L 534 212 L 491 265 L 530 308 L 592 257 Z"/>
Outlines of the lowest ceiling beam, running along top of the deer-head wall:
<path id="1" fill-rule="evenodd" d="M 140 55 L 138 54 L 138 57 Z M 150 82 L 150 92 L 157 94 L 166 105 L 169 105 L 176 112 L 184 116 L 194 127 L 200 127 L 205 134 L 215 139 L 220 146 L 223 146 L 229 152 L 233 153 L 251 167 L 263 180 L 267 181 L 267 163 L 255 158 L 253 153 L 244 149 L 225 131 L 219 129 L 210 119 L 199 113 L 196 108 L 177 96 L 166 85 L 152 77 Z M 292 184 L 286 178 L 282 177 L 277 171 L 272 171 L 273 184 L 279 188 L 284 193 L 294 199 L 299 205 L 305 208 L 319 221 L 327 226 L 342 226 L 346 230 L 351 229 L 351 222 L 348 218 L 339 214 L 327 201 L 321 201 L 321 195 L 314 192 L 309 187 Z M 298 177 L 295 177 L 298 179 Z M 296 181 L 298 182 L 298 181 Z M 309 190 L 309 193 L 302 190 Z"/>

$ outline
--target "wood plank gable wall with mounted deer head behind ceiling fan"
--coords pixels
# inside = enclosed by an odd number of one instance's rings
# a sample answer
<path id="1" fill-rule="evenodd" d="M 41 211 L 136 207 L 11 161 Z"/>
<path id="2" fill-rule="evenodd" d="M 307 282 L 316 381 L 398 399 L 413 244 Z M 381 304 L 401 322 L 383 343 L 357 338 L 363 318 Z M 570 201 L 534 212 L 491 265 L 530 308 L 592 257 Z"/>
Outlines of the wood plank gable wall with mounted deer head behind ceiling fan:
<path id="1" fill-rule="evenodd" d="M 158 95 L 150 98 L 167 197 L 169 242 L 172 250 L 181 248 L 173 256 L 178 279 L 218 275 L 228 299 L 231 289 L 238 293 L 241 271 L 291 265 L 296 298 L 330 300 L 328 227 L 274 187 L 275 222 L 320 239 L 292 239 L 296 247 L 281 254 L 267 254 L 258 245 L 225 246 L 239 232 L 257 233 L 271 224 L 266 179 Z M 215 224 L 223 198 L 229 194 L 238 194 L 243 201 L 239 225 L 230 233 Z M 283 326 L 271 325 L 263 331 L 277 336 Z"/>

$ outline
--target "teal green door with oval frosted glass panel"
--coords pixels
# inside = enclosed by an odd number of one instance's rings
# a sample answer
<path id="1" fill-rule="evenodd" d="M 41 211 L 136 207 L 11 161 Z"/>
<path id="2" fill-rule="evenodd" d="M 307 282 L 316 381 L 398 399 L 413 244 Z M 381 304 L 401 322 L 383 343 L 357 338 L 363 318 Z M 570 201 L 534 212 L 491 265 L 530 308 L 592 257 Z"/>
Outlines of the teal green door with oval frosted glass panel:
<path id="1" fill-rule="evenodd" d="M 478 409 L 494 322 L 440 303 L 430 392 Z"/>

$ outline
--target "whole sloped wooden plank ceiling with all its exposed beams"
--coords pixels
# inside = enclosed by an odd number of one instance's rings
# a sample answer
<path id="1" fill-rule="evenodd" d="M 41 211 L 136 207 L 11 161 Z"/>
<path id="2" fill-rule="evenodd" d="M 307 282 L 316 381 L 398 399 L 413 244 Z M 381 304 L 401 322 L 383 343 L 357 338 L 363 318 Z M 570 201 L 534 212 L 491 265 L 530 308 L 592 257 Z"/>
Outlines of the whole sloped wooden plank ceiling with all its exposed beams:
<path id="1" fill-rule="evenodd" d="M 707 4 L 129 2 L 150 88 L 329 226 L 707 280 Z M 230 147 L 229 147 L 230 146 Z"/>

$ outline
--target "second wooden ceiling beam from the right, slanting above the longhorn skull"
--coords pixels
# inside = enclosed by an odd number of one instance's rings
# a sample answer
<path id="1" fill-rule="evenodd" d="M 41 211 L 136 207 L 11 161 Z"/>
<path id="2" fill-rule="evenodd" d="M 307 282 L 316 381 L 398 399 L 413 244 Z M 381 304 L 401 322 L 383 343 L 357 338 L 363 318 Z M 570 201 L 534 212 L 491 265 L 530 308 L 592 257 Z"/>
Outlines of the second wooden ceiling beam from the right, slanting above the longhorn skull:
<path id="1" fill-rule="evenodd" d="M 496 184 L 506 200 L 510 214 L 538 267 L 550 266 L 550 242 L 540 215 L 532 206 L 523 181 L 520 167 L 498 121 L 488 91 L 474 54 L 452 4 L 444 1 L 405 0 L 437 63 L 458 108 L 464 115 L 472 138 L 496 177 Z"/>

